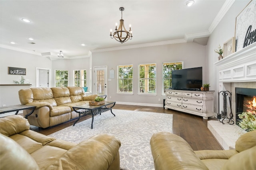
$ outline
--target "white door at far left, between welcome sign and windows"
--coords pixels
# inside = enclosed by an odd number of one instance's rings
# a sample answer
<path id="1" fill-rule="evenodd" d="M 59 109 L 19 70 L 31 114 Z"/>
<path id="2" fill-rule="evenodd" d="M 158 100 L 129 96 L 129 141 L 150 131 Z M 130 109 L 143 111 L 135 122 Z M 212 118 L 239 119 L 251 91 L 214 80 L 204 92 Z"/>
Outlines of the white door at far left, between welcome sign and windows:
<path id="1" fill-rule="evenodd" d="M 49 87 L 49 69 L 37 69 L 36 87 Z"/>

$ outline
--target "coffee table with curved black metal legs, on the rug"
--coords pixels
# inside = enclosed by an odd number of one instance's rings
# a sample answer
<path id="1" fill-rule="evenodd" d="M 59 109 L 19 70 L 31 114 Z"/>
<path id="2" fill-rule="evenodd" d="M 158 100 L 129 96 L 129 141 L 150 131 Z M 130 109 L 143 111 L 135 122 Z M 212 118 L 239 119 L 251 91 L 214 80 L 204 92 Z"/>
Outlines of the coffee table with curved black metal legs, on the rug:
<path id="1" fill-rule="evenodd" d="M 93 120 L 94 120 L 94 115 L 98 115 L 101 114 L 105 111 L 110 110 L 111 113 L 116 116 L 113 112 L 112 112 L 112 108 L 115 106 L 116 102 L 108 102 L 105 101 L 104 104 L 101 105 L 97 105 L 97 106 L 92 106 L 92 105 L 84 105 L 84 106 L 74 106 L 73 110 L 76 113 L 79 113 L 79 116 L 77 118 L 77 120 L 74 122 L 73 126 L 76 124 L 76 122 L 80 119 L 80 115 L 92 115 L 92 125 L 91 125 L 91 129 L 93 128 Z"/>

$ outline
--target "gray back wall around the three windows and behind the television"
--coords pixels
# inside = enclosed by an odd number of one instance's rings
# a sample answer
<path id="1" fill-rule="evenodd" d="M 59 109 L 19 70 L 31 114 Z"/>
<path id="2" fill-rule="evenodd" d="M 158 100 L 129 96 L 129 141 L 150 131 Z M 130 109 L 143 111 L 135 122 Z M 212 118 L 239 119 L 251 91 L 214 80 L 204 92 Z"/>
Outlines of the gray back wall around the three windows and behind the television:
<path id="1" fill-rule="evenodd" d="M 118 42 L 117 42 L 118 43 Z M 206 82 L 206 46 L 197 43 L 179 43 L 142 47 L 118 51 L 92 53 L 92 68 L 108 66 L 114 69 L 115 78 L 108 81 L 108 100 L 162 106 L 162 63 L 184 61 L 184 68 L 203 67 L 203 82 Z M 138 64 L 156 63 L 156 96 L 138 95 Z M 133 95 L 117 94 L 117 66 L 133 64 Z M 109 96 L 112 96 L 109 99 Z M 160 99 L 160 101 L 158 101 Z"/>

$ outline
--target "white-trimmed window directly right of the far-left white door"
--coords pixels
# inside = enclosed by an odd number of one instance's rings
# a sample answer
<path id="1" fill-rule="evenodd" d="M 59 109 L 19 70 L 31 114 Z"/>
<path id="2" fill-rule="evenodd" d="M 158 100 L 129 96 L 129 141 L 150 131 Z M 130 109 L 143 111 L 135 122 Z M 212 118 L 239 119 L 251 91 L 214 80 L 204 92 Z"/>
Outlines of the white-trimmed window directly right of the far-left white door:
<path id="1" fill-rule="evenodd" d="M 55 87 L 68 86 L 68 70 L 55 70 Z"/>

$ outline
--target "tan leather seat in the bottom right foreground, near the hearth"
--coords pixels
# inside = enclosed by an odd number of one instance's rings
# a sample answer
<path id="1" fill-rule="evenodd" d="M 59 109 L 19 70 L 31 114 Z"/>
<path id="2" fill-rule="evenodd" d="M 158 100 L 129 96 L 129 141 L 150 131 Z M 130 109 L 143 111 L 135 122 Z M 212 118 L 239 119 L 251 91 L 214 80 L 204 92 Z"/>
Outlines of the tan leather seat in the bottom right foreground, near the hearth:
<path id="1" fill-rule="evenodd" d="M 155 170 L 256 170 L 256 130 L 241 135 L 236 150 L 198 150 L 178 135 L 160 132 L 150 139 Z"/>

